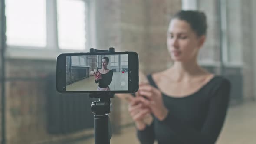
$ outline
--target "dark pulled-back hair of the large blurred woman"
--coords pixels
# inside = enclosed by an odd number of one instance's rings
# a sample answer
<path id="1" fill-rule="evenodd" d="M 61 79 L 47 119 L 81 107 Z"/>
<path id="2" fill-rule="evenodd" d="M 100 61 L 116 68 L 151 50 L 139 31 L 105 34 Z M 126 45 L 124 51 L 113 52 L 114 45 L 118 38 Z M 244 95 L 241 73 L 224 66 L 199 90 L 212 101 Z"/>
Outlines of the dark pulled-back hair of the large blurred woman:
<path id="1" fill-rule="evenodd" d="M 194 30 L 197 36 L 206 34 L 207 20 L 203 12 L 197 10 L 181 10 L 174 15 L 174 18 L 185 20 L 189 23 L 191 29 Z"/>

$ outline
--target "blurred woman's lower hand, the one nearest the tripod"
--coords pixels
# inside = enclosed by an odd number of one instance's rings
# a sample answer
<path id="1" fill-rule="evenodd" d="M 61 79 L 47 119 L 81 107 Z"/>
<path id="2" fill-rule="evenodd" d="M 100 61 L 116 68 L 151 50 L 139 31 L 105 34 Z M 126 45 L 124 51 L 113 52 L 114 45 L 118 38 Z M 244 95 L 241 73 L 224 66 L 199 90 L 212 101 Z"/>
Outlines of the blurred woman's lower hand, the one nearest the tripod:
<path id="1" fill-rule="evenodd" d="M 128 106 L 131 118 L 135 121 L 136 127 L 139 130 L 146 128 L 146 124 L 143 120 L 147 114 L 151 113 L 150 108 L 141 102 L 141 98 L 142 97 L 137 96 L 135 98 L 131 98 Z"/>

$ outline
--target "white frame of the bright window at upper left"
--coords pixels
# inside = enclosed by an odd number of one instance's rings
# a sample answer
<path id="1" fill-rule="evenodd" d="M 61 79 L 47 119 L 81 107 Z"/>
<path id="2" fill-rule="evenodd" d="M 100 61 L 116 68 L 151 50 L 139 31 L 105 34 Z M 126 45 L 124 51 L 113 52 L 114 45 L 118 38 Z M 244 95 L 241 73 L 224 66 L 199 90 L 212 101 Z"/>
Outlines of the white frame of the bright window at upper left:
<path id="1" fill-rule="evenodd" d="M 57 0 L 46 0 L 46 47 L 36 46 L 6 46 L 7 59 L 46 59 L 55 60 L 60 53 L 73 52 L 89 52 L 89 48 L 93 45 L 92 40 L 95 34 L 94 14 L 94 0 L 81 0 L 85 2 L 86 10 L 86 44 L 84 50 L 60 49 L 58 46 L 58 22 L 57 22 Z M 96 48 L 96 47 L 95 47 Z"/>

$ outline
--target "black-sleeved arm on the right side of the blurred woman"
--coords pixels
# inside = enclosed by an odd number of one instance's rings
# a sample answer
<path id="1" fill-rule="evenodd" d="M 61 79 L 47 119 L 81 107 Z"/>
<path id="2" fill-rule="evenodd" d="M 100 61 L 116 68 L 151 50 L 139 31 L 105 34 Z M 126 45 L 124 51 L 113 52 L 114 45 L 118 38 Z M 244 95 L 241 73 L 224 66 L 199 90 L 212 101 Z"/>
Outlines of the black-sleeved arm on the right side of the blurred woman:
<path id="1" fill-rule="evenodd" d="M 171 111 L 168 112 L 167 117 L 162 122 L 171 127 L 176 132 L 177 137 L 185 144 L 214 144 L 223 127 L 229 95 L 230 82 L 224 79 L 210 100 L 207 119 L 201 131 L 191 128 L 190 125 L 183 121 L 177 120 L 171 115 Z"/>

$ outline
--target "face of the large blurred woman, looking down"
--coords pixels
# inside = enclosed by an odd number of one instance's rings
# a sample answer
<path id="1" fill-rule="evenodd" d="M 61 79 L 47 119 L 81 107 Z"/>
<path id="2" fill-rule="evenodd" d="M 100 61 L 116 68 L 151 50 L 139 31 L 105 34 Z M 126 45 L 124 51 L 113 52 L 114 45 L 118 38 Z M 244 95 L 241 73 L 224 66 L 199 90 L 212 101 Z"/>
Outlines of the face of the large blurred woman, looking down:
<path id="1" fill-rule="evenodd" d="M 186 21 L 177 18 L 171 20 L 167 32 L 167 48 L 174 61 L 196 59 L 204 39 L 204 36 L 198 37 Z"/>

